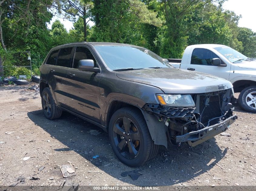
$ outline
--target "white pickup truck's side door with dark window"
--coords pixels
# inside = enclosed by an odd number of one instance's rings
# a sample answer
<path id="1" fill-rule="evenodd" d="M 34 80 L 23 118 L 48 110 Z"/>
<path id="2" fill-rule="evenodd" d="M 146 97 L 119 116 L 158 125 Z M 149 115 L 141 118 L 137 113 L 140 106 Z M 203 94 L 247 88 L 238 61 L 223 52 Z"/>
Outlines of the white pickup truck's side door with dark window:
<path id="1" fill-rule="evenodd" d="M 212 65 L 211 60 L 213 58 L 219 58 L 219 56 L 217 56 L 209 49 L 195 48 L 189 54 L 186 69 L 211 74 L 229 80 L 231 65 L 229 63 L 224 63 L 222 60 L 221 64 L 226 66 Z"/>

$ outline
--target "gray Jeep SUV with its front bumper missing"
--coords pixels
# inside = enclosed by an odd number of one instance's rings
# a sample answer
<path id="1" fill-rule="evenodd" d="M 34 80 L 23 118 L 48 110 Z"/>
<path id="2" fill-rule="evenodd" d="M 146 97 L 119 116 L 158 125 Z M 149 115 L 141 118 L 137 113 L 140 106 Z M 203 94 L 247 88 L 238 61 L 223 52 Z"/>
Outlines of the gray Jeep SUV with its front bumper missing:
<path id="1" fill-rule="evenodd" d="M 176 69 L 139 46 L 57 46 L 40 72 L 45 117 L 68 111 L 101 127 L 117 157 L 132 167 L 154 158 L 159 145 L 196 146 L 237 118 L 229 81 Z"/>

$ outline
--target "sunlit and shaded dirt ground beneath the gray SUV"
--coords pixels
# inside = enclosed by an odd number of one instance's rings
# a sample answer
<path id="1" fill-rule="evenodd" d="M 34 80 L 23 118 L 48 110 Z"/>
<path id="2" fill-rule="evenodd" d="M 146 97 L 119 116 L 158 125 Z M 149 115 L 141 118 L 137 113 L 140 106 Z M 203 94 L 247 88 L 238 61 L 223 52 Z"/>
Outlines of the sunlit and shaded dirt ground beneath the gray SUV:
<path id="1" fill-rule="evenodd" d="M 256 186 L 256 114 L 242 111 L 237 104 L 238 119 L 226 131 L 230 137 L 217 135 L 196 147 L 161 148 L 154 160 L 131 168 L 115 157 L 108 134 L 97 126 L 69 113 L 46 119 L 39 91 L 28 90 L 29 86 L 0 86 L 2 186 L 17 183 L 17 177 L 25 177 L 22 185 L 59 186 L 65 180 L 59 168 L 64 164 L 73 165 L 76 175 L 67 179 L 79 185 Z M 91 129 L 101 134 L 91 135 Z M 24 161 L 24 157 L 30 158 Z M 130 170 L 140 170 L 142 175 L 138 180 L 121 176 Z M 29 180 L 32 176 L 40 180 Z"/>

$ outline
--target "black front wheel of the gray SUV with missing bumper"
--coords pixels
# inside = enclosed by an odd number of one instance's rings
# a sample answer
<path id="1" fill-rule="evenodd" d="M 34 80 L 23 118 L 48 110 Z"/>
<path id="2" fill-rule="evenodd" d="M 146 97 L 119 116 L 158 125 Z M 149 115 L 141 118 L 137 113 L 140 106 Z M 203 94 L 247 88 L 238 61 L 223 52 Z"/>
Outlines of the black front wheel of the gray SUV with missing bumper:
<path id="1" fill-rule="evenodd" d="M 108 131 L 115 154 L 128 166 L 141 166 L 158 152 L 159 145 L 152 141 L 143 115 L 133 108 L 117 110 Z"/>

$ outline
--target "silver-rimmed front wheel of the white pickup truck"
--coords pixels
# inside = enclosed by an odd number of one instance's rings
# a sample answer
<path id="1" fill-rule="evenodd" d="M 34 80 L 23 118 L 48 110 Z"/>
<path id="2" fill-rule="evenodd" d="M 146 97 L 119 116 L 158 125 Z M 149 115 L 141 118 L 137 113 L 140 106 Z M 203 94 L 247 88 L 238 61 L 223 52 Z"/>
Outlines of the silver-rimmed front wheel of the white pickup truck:
<path id="1" fill-rule="evenodd" d="M 243 110 L 256 113 L 256 86 L 244 88 L 238 100 Z"/>

